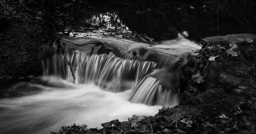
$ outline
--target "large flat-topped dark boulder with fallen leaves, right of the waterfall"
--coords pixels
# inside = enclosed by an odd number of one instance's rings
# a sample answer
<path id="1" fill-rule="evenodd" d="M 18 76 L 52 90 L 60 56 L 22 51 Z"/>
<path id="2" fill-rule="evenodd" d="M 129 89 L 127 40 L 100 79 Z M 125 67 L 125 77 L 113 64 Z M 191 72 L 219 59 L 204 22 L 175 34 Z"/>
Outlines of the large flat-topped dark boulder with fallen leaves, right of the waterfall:
<path id="1" fill-rule="evenodd" d="M 256 35 L 252 34 L 233 34 L 202 39 L 204 46 L 200 58 L 216 57 L 207 63 L 207 71 L 204 73 L 206 85 L 228 90 L 237 89 L 241 85 L 256 88 L 255 39 Z"/>

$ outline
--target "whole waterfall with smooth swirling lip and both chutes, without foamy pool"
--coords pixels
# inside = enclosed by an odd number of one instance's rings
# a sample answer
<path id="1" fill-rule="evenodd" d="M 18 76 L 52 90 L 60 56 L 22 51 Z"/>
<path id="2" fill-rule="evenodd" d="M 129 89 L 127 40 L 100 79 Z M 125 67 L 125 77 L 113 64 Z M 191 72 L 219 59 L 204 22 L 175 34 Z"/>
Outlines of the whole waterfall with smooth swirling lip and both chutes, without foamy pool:
<path id="1" fill-rule="evenodd" d="M 43 74 L 111 92 L 133 89 L 128 100 L 134 103 L 175 106 L 181 68 L 200 48 L 184 38 L 150 44 L 115 37 L 62 37 L 46 45 Z"/>

